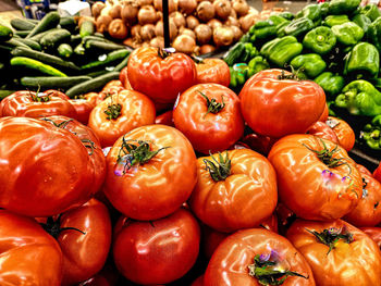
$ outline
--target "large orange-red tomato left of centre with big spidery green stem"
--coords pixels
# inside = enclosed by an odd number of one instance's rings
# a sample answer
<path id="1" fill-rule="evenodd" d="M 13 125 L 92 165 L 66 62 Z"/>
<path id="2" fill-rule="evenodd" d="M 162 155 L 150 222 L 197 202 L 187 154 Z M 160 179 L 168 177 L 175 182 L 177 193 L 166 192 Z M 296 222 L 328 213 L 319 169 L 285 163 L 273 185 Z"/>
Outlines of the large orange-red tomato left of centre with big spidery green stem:
<path id="1" fill-rule="evenodd" d="M 156 220 L 185 202 L 196 185 L 196 156 L 177 129 L 148 125 L 133 129 L 107 157 L 103 190 L 125 216 Z"/>

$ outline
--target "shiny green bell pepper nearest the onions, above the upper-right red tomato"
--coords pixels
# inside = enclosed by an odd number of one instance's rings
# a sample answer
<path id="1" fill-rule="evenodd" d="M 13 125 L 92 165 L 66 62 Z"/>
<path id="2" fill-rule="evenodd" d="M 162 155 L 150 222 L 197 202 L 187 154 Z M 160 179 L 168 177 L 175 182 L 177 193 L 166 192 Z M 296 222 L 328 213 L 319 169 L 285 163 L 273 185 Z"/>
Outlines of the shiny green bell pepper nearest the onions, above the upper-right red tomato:
<path id="1" fill-rule="evenodd" d="M 262 46 L 260 53 L 270 62 L 283 67 L 303 50 L 303 45 L 293 36 L 273 39 Z"/>

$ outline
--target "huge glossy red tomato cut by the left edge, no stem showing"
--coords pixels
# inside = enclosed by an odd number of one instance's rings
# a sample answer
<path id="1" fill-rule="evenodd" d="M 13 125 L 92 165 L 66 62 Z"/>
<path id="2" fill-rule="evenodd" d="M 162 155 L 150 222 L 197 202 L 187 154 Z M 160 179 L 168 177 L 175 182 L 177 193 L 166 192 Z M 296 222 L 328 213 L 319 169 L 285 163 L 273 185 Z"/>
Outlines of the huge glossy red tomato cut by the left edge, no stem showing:
<path id="1" fill-rule="evenodd" d="M 89 199 L 93 172 L 87 148 L 69 130 L 28 117 L 0 120 L 0 208 L 61 213 Z"/>

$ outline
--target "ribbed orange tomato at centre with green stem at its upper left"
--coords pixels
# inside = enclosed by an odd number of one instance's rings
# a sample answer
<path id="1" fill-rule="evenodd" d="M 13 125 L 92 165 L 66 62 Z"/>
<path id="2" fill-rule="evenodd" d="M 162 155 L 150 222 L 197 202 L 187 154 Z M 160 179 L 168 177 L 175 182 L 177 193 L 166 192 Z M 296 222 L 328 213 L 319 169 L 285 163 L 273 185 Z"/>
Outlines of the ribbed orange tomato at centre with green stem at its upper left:
<path id="1" fill-rule="evenodd" d="M 190 209 L 219 232 L 258 226 L 276 207 L 275 172 L 265 157 L 253 150 L 199 158 L 197 176 Z"/>

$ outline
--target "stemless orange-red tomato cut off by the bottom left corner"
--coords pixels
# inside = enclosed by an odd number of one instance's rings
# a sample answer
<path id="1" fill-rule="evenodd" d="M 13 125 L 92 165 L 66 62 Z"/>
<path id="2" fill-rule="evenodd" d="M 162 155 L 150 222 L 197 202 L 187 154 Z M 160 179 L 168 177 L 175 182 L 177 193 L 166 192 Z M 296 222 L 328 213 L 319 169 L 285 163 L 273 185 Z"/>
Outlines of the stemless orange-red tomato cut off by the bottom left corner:
<path id="1" fill-rule="evenodd" d="M 0 210 L 0 285 L 60 286 L 62 252 L 33 219 Z"/>

